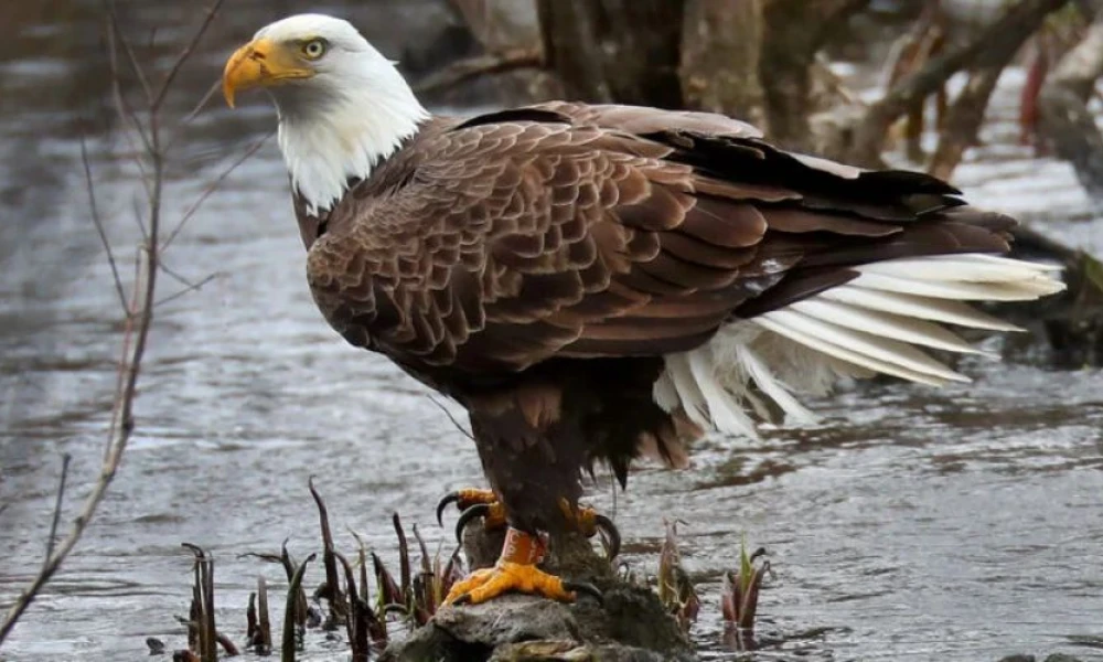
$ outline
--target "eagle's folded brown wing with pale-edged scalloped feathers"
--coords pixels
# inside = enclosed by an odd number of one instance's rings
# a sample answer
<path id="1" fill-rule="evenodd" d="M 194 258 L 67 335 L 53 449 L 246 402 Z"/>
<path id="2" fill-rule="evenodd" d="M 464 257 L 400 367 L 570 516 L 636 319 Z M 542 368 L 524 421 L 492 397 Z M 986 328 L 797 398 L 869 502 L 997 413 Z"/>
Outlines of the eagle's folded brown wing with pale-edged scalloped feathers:
<path id="1" fill-rule="evenodd" d="M 692 350 L 855 265 L 1002 253 L 1011 224 L 708 114 L 545 105 L 419 149 L 401 189 L 314 245 L 310 281 L 350 340 L 464 371 Z"/>

